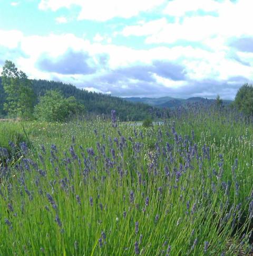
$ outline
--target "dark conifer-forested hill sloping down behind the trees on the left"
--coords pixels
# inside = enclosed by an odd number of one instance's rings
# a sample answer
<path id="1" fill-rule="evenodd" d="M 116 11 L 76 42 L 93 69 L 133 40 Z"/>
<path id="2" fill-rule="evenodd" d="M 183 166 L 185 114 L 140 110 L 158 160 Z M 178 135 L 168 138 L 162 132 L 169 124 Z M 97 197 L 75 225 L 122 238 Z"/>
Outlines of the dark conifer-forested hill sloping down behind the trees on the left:
<path id="1" fill-rule="evenodd" d="M 34 88 L 34 92 L 37 96 L 37 102 L 39 95 L 43 96 L 46 90 L 57 89 L 60 90 L 65 97 L 74 96 L 79 102 L 84 104 L 88 112 L 94 114 L 106 114 L 110 115 L 111 110 L 115 109 L 117 116 L 122 121 L 138 121 L 143 120 L 150 115 L 151 112 L 155 113 L 158 109 L 153 108 L 143 103 L 131 103 L 126 100 L 113 97 L 101 93 L 88 92 L 87 90 L 78 89 L 71 84 L 63 84 L 56 81 L 47 80 L 31 80 Z M 3 86 L 0 78 L 0 115 L 4 116 L 6 113 L 3 111 L 3 103 L 6 95 L 4 94 Z M 159 112 L 159 111 L 158 111 Z"/>

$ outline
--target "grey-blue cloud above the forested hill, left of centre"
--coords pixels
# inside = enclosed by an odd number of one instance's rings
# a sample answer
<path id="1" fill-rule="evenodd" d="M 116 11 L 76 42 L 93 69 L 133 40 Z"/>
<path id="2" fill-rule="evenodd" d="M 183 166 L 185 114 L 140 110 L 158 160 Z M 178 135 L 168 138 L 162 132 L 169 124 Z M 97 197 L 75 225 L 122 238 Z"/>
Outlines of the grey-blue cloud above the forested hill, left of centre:
<path id="1" fill-rule="evenodd" d="M 43 56 L 36 65 L 42 71 L 56 72 L 62 75 L 87 75 L 96 71 L 89 62 L 91 62 L 91 58 L 87 53 L 69 50 L 56 59 Z"/>

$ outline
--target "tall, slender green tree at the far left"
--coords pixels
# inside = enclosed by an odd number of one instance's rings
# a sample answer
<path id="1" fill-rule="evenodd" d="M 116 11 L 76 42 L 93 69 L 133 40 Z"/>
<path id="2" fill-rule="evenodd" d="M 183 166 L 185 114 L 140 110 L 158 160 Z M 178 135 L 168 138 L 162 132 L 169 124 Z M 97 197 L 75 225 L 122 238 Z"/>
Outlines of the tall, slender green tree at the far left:
<path id="1" fill-rule="evenodd" d="M 12 61 L 5 61 L 2 83 L 7 95 L 4 110 L 8 115 L 21 118 L 31 117 L 35 100 L 31 82 L 23 71 L 17 70 Z"/>

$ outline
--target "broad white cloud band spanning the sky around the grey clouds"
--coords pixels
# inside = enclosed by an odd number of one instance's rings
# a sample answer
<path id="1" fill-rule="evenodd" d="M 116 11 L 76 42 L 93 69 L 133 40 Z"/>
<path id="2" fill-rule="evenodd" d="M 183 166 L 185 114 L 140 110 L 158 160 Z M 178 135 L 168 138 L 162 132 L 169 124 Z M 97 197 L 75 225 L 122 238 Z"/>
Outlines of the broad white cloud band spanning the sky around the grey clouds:
<path id="1" fill-rule="evenodd" d="M 164 22 L 163 19 L 159 22 Z M 139 28 L 138 28 L 139 29 Z M 19 56 L 15 60 L 18 68 L 21 68 L 30 78 L 42 78 L 42 79 L 57 79 L 65 81 L 66 83 L 73 83 L 78 86 L 87 85 L 87 88 L 92 89 L 93 79 L 101 75 L 106 75 L 110 70 L 121 68 L 122 70 L 127 67 L 142 65 L 152 65 L 154 60 L 164 60 L 172 63 L 177 63 L 184 67 L 186 72 L 186 81 L 173 81 L 168 78 L 164 78 L 153 74 L 153 77 L 157 81 L 157 84 L 164 88 L 181 88 L 187 85 L 189 81 L 199 81 L 215 79 L 228 80 L 234 76 L 253 78 L 252 67 L 242 65 L 242 63 L 229 59 L 227 52 L 229 47 L 224 45 L 225 41 L 222 36 L 204 39 L 202 42 L 213 44 L 211 50 L 204 50 L 194 47 L 153 47 L 147 50 L 137 50 L 130 47 L 114 45 L 110 43 L 104 43 L 106 40 L 110 41 L 110 38 L 106 38 L 102 35 L 97 35 L 96 42 L 91 42 L 84 38 L 79 38 L 74 34 L 49 34 L 47 36 L 25 36 L 20 31 L 2 31 L 0 30 L 0 45 L 9 49 L 18 49 L 23 51 L 26 58 Z M 205 36 L 204 36 L 205 37 Z M 102 41 L 101 41 L 102 40 Z M 220 45 L 221 44 L 221 45 Z M 106 66 L 101 67 L 98 72 L 91 75 L 60 75 L 53 72 L 44 72 L 38 69 L 36 66 L 37 61 L 43 56 L 52 57 L 52 59 L 58 58 L 66 53 L 68 50 L 87 52 L 93 60 L 98 60 L 98 56 L 108 56 L 106 59 Z M 246 52 L 237 52 L 238 56 L 247 62 L 253 63 L 253 56 Z M 98 68 L 100 62 L 98 62 Z M 57 75 L 57 76 L 56 76 Z M 137 84 L 137 81 L 129 80 L 131 85 Z M 90 86 L 91 85 L 91 86 Z M 102 92 L 108 92 L 111 88 L 110 84 L 99 87 L 97 85 L 96 90 Z M 122 87 L 122 84 L 115 84 L 115 88 Z M 125 84 L 123 84 L 125 86 Z M 154 85 L 155 86 L 155 85 Z M 190 86 L 190 85 L 189 85 Z M 114 87 L 113 87 L 114 88 Z M 130 88 L 123 88 L 131 90 Z M 114 92 L 114 89 L 110 89 Z"/>

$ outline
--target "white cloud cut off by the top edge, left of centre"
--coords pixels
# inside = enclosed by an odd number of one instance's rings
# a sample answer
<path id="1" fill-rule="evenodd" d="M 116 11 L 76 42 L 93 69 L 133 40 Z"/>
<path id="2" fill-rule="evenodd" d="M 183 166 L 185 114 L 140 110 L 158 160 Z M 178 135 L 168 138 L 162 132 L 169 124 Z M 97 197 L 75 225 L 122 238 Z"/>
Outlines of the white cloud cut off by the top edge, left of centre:
<path id="1" fill-rule="evenodd" d="M 41 10 L 51 9 L 57 11 L 72 5 L 81 7 L 79 20 L 107 21 L 114 17 L 130 18 L 138 15 L 140 12 L 154 11 L 153 8 L 160 6 L 166 0 L 41 0 L 39 8 Z"/>

